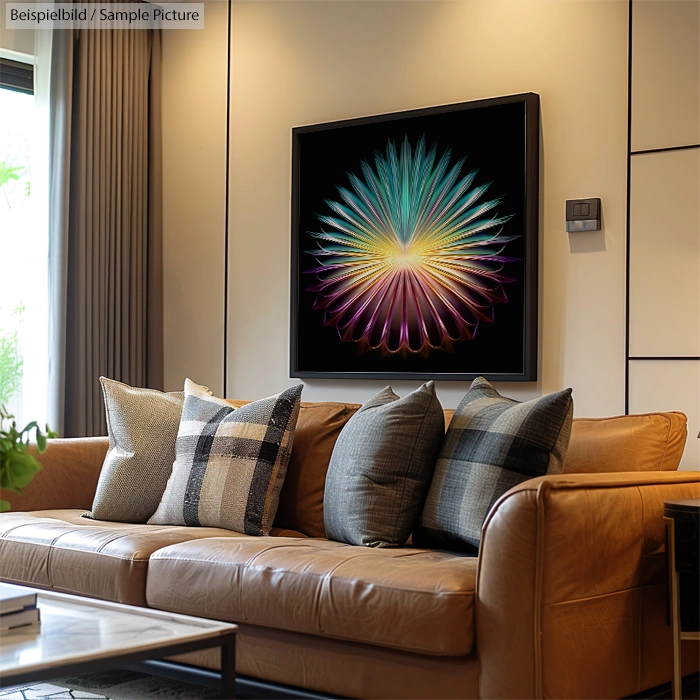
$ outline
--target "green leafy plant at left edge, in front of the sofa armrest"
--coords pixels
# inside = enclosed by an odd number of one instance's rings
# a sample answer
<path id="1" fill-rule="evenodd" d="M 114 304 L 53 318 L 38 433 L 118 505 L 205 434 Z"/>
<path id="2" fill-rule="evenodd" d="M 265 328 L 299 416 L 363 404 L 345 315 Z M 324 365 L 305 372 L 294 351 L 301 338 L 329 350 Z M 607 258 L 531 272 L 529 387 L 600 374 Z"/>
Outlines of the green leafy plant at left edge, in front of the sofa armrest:
<path id="1" fill-rule="evenodd" d="M 56 433 L 46 426 L 43 433 L 36 421 L 32 421 L 22 430 L 17 429 L 13 420 L 4 406 L 0 406 L 0 489 L 6 489 L 13 493 L 22 493 L 22 489 L 29 484 L 36 473 L 41 469 L 41 464 L 33 454 L 29 452 L 29 437 L 34 431 L 36 438 L 36 452 L 46 452 L 47 438 L 57 437 Z M 9 425 L 9 427 L 5 427 Z M 10 509 L 7 501 L 0 500 L 0 512 Z"/>

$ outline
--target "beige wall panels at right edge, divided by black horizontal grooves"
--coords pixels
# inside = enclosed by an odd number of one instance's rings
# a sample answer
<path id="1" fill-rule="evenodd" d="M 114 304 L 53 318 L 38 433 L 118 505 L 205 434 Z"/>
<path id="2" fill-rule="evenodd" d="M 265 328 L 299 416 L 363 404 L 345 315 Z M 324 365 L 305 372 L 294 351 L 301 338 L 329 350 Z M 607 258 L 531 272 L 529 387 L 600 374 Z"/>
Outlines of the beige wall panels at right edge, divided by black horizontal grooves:
<path id="1" fill-rule="evenodd" d="M 682 410 L 697 435 L 700 5 L 629 0 L 629 13 L 625 411 Z"/>

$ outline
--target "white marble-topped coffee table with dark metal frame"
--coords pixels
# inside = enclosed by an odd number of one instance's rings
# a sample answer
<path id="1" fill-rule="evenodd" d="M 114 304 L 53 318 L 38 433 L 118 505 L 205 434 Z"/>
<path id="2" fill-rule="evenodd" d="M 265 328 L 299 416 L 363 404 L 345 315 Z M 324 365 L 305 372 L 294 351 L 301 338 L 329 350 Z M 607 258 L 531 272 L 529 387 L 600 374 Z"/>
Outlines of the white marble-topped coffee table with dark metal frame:
<path id="1" fill-rule="evenodd" d="M 37 591 L 41 626 L 0 633 L 0 688 L 221 647 L 221 694 L 235 697 L 236 625 Z"/>

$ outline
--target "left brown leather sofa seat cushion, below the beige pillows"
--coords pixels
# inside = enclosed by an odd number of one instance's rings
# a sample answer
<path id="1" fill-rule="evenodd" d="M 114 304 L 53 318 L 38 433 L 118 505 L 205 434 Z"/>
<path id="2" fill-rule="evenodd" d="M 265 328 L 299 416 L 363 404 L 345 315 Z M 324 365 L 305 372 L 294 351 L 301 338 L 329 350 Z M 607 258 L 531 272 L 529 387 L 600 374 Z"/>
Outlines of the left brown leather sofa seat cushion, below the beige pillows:
<path id="1" fill-rule="evenodd" d="M 219 528 L 88 520 L 81 517 L 84 512 L 0 515 L 0 579 L 145 605 L 146 568 L 153 552 L 203 537 L 244 537 Z"/>

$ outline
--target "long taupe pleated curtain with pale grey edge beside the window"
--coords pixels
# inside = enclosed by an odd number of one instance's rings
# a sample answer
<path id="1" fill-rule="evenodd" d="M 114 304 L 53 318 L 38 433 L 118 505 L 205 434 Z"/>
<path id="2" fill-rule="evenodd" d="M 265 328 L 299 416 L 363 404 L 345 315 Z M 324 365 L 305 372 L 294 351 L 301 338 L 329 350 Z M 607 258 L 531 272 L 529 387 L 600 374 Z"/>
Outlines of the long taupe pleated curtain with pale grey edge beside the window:
<path id="1" fill-rule="evenodd" d="M 159 32 L 54 32 L 50 102 L 50 421 L 104 435 L 100 375 L 163 385 Z"/>

